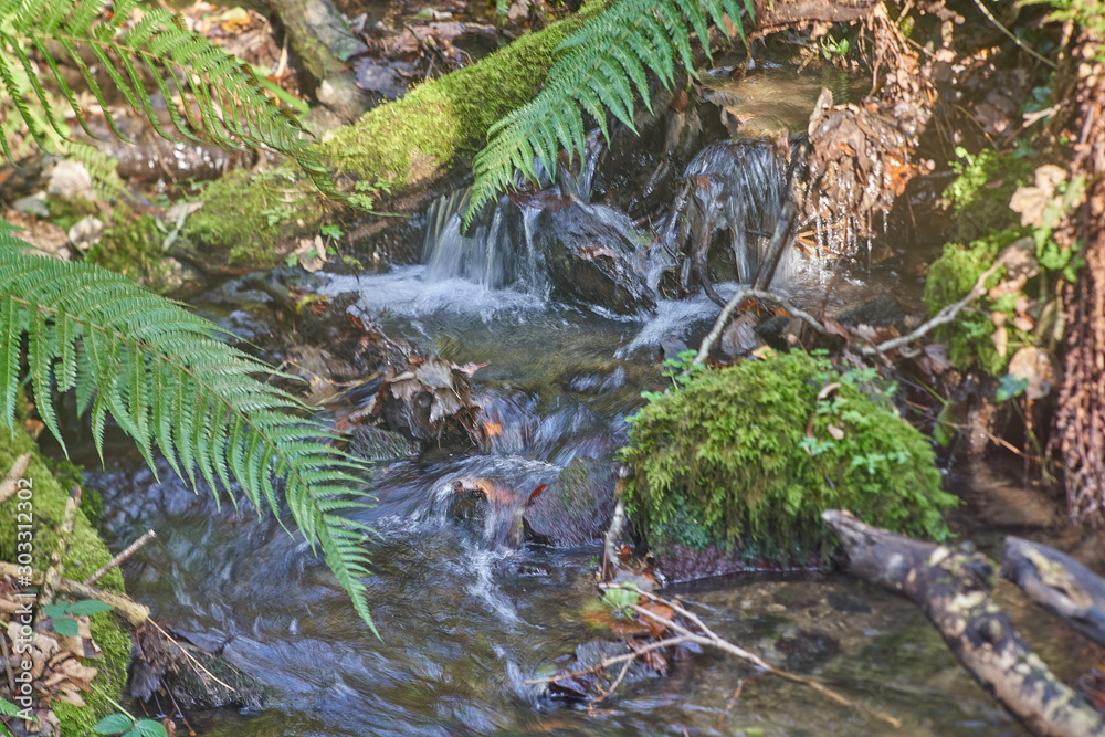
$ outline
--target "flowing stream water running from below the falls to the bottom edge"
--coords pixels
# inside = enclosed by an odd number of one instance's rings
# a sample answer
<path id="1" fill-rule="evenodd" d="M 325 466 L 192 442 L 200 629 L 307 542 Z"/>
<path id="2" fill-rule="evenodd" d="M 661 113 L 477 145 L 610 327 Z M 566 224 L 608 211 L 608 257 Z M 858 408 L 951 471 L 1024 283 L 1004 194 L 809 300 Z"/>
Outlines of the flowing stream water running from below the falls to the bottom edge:
<path id="1" fill-rule="evenodd" d="M 693 162 L 707 165 L 701 156 Z M 576 185 L 577 193 L 590 189 L 589 181 Z M 697 345 L 717 307 L 701 294 L 660 298 L 654 313 L 566 304 L 550 298 L 532 261 L 496 255 L 495 242 L 516 235 L 501 235 L 492 223 L 483 241 L 460 242 L 449 224 L 455 215 L 439 214 L 430 218 L 436 224 L 423 265 L 322 276 L 322 292 L 355 292 L 350 309 L 375 316 L 388 335 L 456 364 L 485 364 L 473 396 L 501 428 L 481 452 L 399 460 L 369 480 L 376 506 L 355 516 L 379 533 L 367 586 L 381 639 L 302 537 L 272 518 L 259 520 L 248 507 L 239 514 L 225 502 L 219 508 L 164 462 L 158 483 L 123 450 L 87 474 L 104 497 L 102 528 L 113 549 L 157 530 L 125 567 L 130 593 L 158 622 L 221 651 L 271 689 L 261 709 L 188 714 L 200 735 L 1024 734 L 913 604 L 839 575 L 733 576 L 669 592 L 693 602 L 723 636 L 896 716 L 902 730 L 712 652 L 673 662 L 665 677 L 623 685 L 591 714 L 527 685 L 550 663 L 568 666 L 577 647 L 609 636 L 587 614 L 597 602 L 589 576 L 601 549 L 504 545 L 494 515 L 471 524 L 450 514 L 452 485 L 494 477 L 528 489 L 577 457 L 612 464 L 642 387 L 660 378 L 655 347 L 663 339 Z M 615 225 L 625 219 L 602 217 Z M 736 228 L 728 220 L 715 225 Z M 744 243 L 746 234 L 734 230 L 738 235 Z M 439 249 L 449 238 L 457 241 L 452 261 Z M 532 254 L 533 243 L 526 245 L 516 253 Z M 740 260 L 748 253 L 738 254 L 740 273 L 754 265 Z M 818 269 L 786 266 L 785 286 L 817 288 Z M 901 288 L 877 269 L 872 278 Z M 717 288 L 725 297 L 736 286 Z M 197 306 L 233 329 L 249 324 L 210 295 Z"/>

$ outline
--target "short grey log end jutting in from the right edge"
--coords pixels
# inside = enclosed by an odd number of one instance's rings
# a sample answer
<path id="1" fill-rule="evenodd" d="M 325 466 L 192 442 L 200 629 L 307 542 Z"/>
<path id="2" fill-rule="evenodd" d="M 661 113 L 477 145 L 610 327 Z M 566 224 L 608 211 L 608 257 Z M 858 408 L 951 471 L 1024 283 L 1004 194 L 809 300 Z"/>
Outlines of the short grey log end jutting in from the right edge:
<path id="1" fill-rule="evenodd" d="M 1105 645 L 1105 581 L 1054 548 L 1006 538 L 1001 575 L 1080 634 Z"/>

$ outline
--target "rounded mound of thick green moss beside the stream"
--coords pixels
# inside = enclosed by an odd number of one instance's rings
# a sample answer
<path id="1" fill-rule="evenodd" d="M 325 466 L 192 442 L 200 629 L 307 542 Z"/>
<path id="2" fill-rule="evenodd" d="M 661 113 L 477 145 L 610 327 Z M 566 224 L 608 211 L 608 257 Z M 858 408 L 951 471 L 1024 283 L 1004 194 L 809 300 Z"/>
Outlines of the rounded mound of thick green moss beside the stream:
<path id="1" fill-rule="evenodd" d="M 927 439 L 864 394 L 856 373 L 792 351 L 707 370 L 654 397 L 622 451 L 634 471 L 627 508 L 653 551 L 804 564 L 829 551 L 829 508 L 943 540 L 941 510 L 957 501 L 940 487 Z"/>

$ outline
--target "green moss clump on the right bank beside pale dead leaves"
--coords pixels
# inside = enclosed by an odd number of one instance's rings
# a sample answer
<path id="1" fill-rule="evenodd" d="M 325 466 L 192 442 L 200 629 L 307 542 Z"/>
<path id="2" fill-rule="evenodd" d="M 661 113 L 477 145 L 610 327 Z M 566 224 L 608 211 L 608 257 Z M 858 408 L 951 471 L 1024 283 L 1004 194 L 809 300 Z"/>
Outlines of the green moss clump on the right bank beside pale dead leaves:
<path id="1" fill-rule="evenodd" d="M 967 296 L 979 275 L 993 264 L 1001 250 L 1025 233 L 1025 229 L 1002 230 L 971 241 L 968 245 L 945 245 L 944 253 L 929 266 L 925 282 L 925 302 L 929 315 L 935 315 L 947 305 Z M 1002 271 L 999 270 L 986 286 L 994 286 L 1001 280 L 1001 274 Z M 960 371 L 977 369 L 997 377 L 1004 371 L 1017 348 L 1029 343 L 1030 338 L 1007 322 L 1009 347 L 1006 355 L 1001 356 L 991 338 L 997 327 L 989 317 L 990 310 L 997 309 L 999 305 L 982 297 L 978 307 L 980 308 L 965 309 L 953 322 L 938 327 L 936 338 L 948 347 L 948 358 Z M 1011 317 L 1012 310 L 1006 307 Z"/>

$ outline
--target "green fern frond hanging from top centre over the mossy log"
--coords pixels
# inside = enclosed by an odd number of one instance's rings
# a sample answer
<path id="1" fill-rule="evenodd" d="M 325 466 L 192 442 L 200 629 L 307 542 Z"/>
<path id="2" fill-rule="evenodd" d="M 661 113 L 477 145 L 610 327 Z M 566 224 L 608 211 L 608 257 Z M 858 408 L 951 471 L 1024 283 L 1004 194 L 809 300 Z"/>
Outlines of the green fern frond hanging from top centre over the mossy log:
<path id="1" fill-rule="evenodd" d="M 750 17 L 751 0 L 744 4 Z M 554 173 L 558 148 L 566 149 L 569 158 L 583 151 L 581 110 L 598 122 L 607 138 L 608 109 L 635 130 L 634 94 L 652 109 L 646 70 L 667 88 L 675 82 L 676 59 L 693 74 L 692 31 L 704 41 L 708 54 L 708 23 L 722 23 L 726 14 L 744 36 L 735 0 L 620 0 L 566 39 L 541 92 L 492 126 L 491 140 L 476 154 L 465 227 L 485 203 L 513 185 L 516 169 L 536 180 L 535 159 Z"/>

